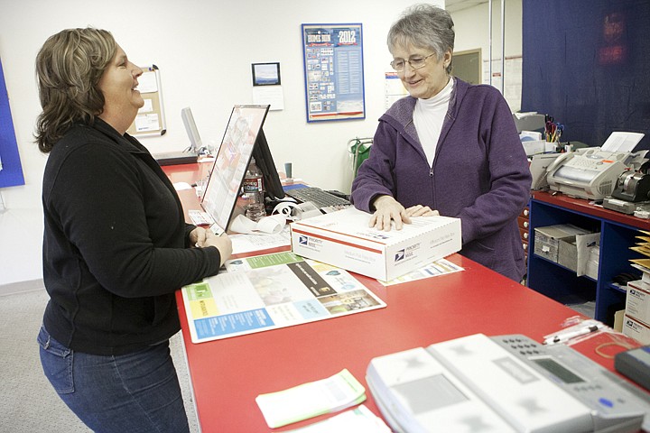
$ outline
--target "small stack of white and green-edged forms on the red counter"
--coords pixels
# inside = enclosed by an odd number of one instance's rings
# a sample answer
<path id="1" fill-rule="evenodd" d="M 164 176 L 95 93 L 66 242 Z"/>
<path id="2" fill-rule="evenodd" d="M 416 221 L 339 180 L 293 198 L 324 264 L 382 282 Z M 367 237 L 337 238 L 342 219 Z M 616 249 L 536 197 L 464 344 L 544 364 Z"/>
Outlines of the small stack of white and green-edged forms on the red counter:
<path id="1" fill-rule="evenodd" d="M 348 409 L 366 400 L 366 389 L 348 369 L 316 382 L 260 394 L 257 405 L 270 428 Z"/>

